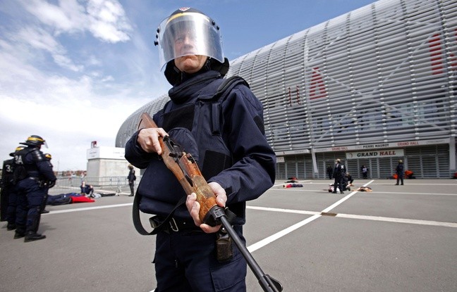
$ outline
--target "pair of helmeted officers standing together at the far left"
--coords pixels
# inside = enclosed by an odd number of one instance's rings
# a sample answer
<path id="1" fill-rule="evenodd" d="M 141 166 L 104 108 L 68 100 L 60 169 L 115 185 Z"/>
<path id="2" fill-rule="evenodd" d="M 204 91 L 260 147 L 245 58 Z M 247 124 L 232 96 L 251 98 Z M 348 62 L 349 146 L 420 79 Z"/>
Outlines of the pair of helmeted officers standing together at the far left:
<path id="1" fill-rule="evenodd" d="M 4 161 L 1 178 L 1 220 L 7 230 L 15 230 L 14 239 L 25 242 L 45 239 L 39 234 L 39 221 L 48 190 L 56 184 L 51 155 L 40 150 L 46 141 L 31 135 Z M 5 208 L 6 207 L 6 208 Z"/>

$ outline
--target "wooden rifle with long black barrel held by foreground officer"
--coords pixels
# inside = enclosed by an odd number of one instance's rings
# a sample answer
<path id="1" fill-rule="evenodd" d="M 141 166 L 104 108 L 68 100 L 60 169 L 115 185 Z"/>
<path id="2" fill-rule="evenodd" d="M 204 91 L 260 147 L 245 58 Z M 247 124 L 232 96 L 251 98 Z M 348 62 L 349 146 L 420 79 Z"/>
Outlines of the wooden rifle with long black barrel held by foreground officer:
<path id="1" fill-rule="evenodd" d="M 156 123 L 148 113 L 142 113 L 138 125 L 139 130 L 145 128 L 157 128 Z M 197 202 L 200 203 L 200 212 L 198 214 L 200 220 L 213 227 L 219 224 L 224 227 L 246 262 L 248 262 L 250 269 L 255 274 L 255 277 L 265 292 L 282 291 L 282 284 L 262 271 L 255 259 L 249 253 L 248 248 L 245 247 L 238 234 L 236 234 L 235 229 L 233 229 L 226 217 L 224 208 L 217 205 L 216 196 L 202 176 L 202 172 L 200 172 L 192 155 L 190 155 L 190 153 L 185 153 L 181 149 L 181 146 L 174 143 L 168 136 L 163 138 L 159 137 L 159 143 L 162 148 L 162 160 L 164 160 L 166 167 L 173 172 L 176 179 L 178 179 L 181 186 L 183 186 L 185 193 L 187 195 L 190 195 L 190 193 L 197 194 Z"/>

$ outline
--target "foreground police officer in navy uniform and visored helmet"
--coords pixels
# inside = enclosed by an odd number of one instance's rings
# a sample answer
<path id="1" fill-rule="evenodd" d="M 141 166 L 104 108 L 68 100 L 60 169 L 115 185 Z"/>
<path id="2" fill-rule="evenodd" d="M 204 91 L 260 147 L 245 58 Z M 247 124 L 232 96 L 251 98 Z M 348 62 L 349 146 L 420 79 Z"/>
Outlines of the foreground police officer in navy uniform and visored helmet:
<path id="1" fill-rule="evenodd" d="M 214 20 L 193 8 L 180 8 L 157 30 L 159 56 L 173 85 L 169 101 L 153 116 L 159 128 L 141 129 L 126 144 L 126 158 L 146 169 L 138 186 L 140 210 L 156 215 L 159 225 L 154 264 L 155 291 L 245 291 L 246 262 L 215 255 L 220 226 L 202 224 L 195 193 L 185 197 L 159 154 L 158 137 L 170 136 L 193 155 L 217 204 L 236 214 L 232 221 L 242 241 L 245 202 L 274 184 L 276 156 L 264 134 L 262 104 L 246 84 L 226 89 L 222 100 L 209 102 L 229 69 L 220 30 Z M 227 92 L 228 91 L 228 92 Z M 265 222 L 267 224 L 267 222 Z M 157 226 L 157 224 L 154 224 Z"/>

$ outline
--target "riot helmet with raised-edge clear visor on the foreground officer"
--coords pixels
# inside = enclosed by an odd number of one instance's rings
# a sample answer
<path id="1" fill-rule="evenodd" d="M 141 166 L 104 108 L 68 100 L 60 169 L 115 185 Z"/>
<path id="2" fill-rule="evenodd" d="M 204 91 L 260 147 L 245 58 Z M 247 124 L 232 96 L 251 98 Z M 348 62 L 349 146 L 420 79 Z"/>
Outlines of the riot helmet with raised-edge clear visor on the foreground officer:
<path id="1" fill-rule="evenodd" d="M 173 60 L 182 56 L 207 56 L 207 68 L 222 76 L 229 71 L 229 60 L 224 58 L 219 26 L 212 18 L 194 8 L 179 8 L 157 28 L 159 65 L 166 79 L 173 85 L 181 72 Z"/>

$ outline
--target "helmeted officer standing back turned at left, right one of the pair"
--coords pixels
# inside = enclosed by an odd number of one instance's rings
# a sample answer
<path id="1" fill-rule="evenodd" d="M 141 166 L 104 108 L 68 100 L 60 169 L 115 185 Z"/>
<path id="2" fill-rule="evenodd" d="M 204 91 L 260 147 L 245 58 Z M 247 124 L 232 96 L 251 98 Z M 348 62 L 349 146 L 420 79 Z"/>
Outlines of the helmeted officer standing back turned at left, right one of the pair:
<path id="1" fill-rule="evenodd" d="M 20 144 L 27 147 L 14 156 L 16 168 L 14 179 L 17 182 L 18 208 L 16 212 L 15 239 L 25 236 L 24 241 L 45 239 L 38 234 L 41 208 L 49 188 L 56 183 L 52 165 L 39 149 L 45 143 L 42 137 L 32 135 Z"/>

